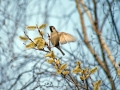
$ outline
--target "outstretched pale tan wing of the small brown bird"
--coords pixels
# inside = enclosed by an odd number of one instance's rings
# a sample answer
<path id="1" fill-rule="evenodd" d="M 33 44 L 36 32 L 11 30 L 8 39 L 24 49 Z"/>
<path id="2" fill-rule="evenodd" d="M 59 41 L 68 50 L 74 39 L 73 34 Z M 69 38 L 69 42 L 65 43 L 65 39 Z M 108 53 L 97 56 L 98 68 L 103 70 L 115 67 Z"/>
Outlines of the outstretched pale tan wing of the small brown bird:
<path id="1" fill-rule="evenodd" d="M 65 44 L 67 42 L 75 42 L 76 41 L 76 38 L 74 36 L 68 34 L 68 33 L 60 32 L 59 35 L 60 35 L 59 40 L 60 40 L 61 44 Z"/>

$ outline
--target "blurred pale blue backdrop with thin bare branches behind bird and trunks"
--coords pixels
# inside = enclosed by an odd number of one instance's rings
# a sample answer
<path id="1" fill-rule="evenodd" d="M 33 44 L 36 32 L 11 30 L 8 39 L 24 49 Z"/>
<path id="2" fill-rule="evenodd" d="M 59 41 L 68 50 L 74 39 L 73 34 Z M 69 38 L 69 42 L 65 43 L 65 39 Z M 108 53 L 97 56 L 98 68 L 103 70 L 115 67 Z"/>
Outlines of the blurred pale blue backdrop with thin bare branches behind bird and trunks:
<path id="1" fill-rule="evenodd" d="M 84 5 L 81 1 L 84 2 Z M 72 83 L 61 75 L 57 75 L 54 67 L 46 62 L 46 52 L 26 49 L 19 39 L 19 36 L 24 35 L 24 31 L 31 39 L 39 36 L 37 31 L 28 31 L 26 26 L 42 25 L 43 23 L 47 24 L 43 30 L 47 42 L 47 35 L 50 34 L 49 26 L 51 25 L 58 32 L 70 33 L 77 38 L 74 43 L 61 45 L 65 56 L 62 56 L 56 48 L 52 48 L 60 61 L 68 65 L 69 70 L 75 68 L 77 61 L 82 63 L 82 68 L 90 69 L 98 66 L 98 71 L 91 76 L 92 80 L 87 80 L 87 90 L 92 90 L 91 82 L 97 80 L 102 80 L 100 90 L 112 90 L 112 85 L 116 87 L 116 90 L 120 90 L 120 79 L 116 70 L 105 51 L 103 51 L 103 58 L 97 34 L 87 16 L 87 10 L 84 10 L 86 7 L 93 20 L 97 22 L 99 32 L 111 50 L 116 64 L 119 64 L 120 1 L 78 0 L 78 3 L 84 18 L 88 43 L 103 62 L 104 59 L 106 60 L 114 85 L 111 84 L 103 68 L 84 43 L 77 0 L 0 0 L 0 90 L 75 89 Z M 79 75 L 72 74 L 72 77 L 80 85 L 85 84 L 80 80 Z"/>

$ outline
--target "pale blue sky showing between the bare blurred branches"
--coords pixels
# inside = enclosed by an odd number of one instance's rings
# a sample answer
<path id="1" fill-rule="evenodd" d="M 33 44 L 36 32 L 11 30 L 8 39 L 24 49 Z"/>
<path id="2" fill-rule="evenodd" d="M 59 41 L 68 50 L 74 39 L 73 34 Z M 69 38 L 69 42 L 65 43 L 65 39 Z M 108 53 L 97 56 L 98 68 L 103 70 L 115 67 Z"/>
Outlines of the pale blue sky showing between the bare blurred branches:
<path id="1" fill-rule="evenodd" d="M 82 33 L 82 30 L 81 30 L 79 14 L 76 9 L 76 4 L 75 4 L 74 0 L 44 0 L 44 1 L 43 0 L 26 0 L 26 1 L 24 1 L 24 0 L 13 0 L 13 1 L 9 1 L 9 0 L 4 1 L 3 0 L 2 1 L 1 0 L 0 2 L 1 2 L 0 10 L 2 10 L 2 12 L 5 13 L 5 14 L 2 14 L 0 12 L 0 21 L 3 21 L 5 23 L 4 24 L 3 22 L 0 22 L 0 27 L 2 27 L 2 29 L 0 29 L 0 33 L 1 33 L 0 40 L 3 44 L 3 46 L 5 47 L 5 54 L 6 54 L 6 56 L 8 56 L 8 61 L 13 59 L 12 53 L 10 53 L 10 54 L 8 53 L 11 51 L 11 48 L 13 46 L 14 46 L 14 48 L 12 50 L 14 50 L 16 55 L 21 54 L 21 56 L 27 55 L 29 57 L 34 55 L 36 57 L 37 56 L 39 57 L 39 55 L 41 55 L 42 52 L 35 51 L 35 50 L 27 50 L 25 48 L 23 42 L 20 41 L 19 36 L 24 35 L 24 31 L 26 31 L 27 34 L 31 38 L 37 37 L 39 35 L 38 32 L 37 31 L 28 31 L 26 29 L 26 26 L 36 25 L 36 24 L 41 25 L 43 23 L 46 23 L 47 27 L 44 29 L 46 40 L 47 40 L 47 33 L 50 34 L 49 26 L 51 26 L 51 25 L 55 26 L 55 28 L 59 32 L 70 33 L 77 38 L 77 41 L 75 43 L 68 43 L 65 45 L 61 45 L 61 47 L 67 49 L 68 51 L 73 52 L 74 54 L 77 53 L 76 54 L 76 57 L 78 57 L 77 59 L 83 59 L 84 60 L 83 63 L 86 63 L 86 62 L 88 62 L 90 64 L 92 62 L 94 63 L 94 61 L 93 61 L 94 58 L 92 57 L 91 53 L 87 50 L 83 41 L 81 40 L 78 33 L 76 32 L 76 29 L 78 29 L 80 31 L 80 33 Z M 102 4 L 103 2 L 104 2 L 104 0 L 102 0 L 100 3 Z M 89 6 L 90 6 L 90 8 L 92 8 L 91 3 Z M 103 7 L 98 6 L 98 8 L 100 10 L 98 12 L 98 14 L 99 14 L 100 23 L 101 23 L 103 20 L 103 14 L 104 14 L 103 9 L 101 9 Z M 107 5 L 104 8 L 107 8 Z M 119 9 L 118 9 L 118 7 L 115 7 L 114 10 L 118 11 Z M 91 13 L 93 14 L 92 10 L 91 10 Z M 114 13 L 114 15 L 116 16 L 115 20 L 118 20 L 117 27 L 119 27 L 119 22 L 120 22 L 120 19 L 117 17 L 118 14 L 119 14 L 119 11 Z M 87 28 L 87 34 L 89 37 L 89 41 L 94 41 L 94 43 L 91 43 L 91 44 L 93 45 L 96 52 L 99 53 L 100 51 L 98 50 L 99 49 L 98 41 L 96 41 L 96 35 L 94 34 L 94 32 L 91 29 L 91 24 L 89 23 L 89 20 L 88 20 L 86 14 L 84 14 L 84 20 L 85 20 L 85 25 Z M 105 38 L 106 36 L 109 38 L 112 36 L 111 34 L 113 34 L 113 32 L 111 31 L 110 23 L 111 23 L 111 21 L 109 18 L 107 20 L 107 24 L 105 23 L 105 27 L 103 28 L 102 35 L 105 40 L 106 40 L 106 38 Z M 10 34 L 8 35 L 6 32 L 10 33 Z M 15 32 L 17 32 L 16 33 L 17 35 L 15 36 L 15 38 L 13 40 L 15 43 L 13 45 L 13 44 L 11 44 L 12 40 L 10 40 L 10 39 Z M 109 35 L 111 35 L 111 36 L 109 36 Z M 77 49 L 78 43 L 80 43 L 79 49 Z M 109 43 L 110 42 L 107 42 L 107 44 L 109 44 Z M 53 50 L 58 53 L 59 57 L 62 57 L 62 54 L 59 52 L 59 50 L 57 50 L 56 48 L 53 48 Z M 23 52 L 21 53 L 21 51 L 23 51 Z M 63 49 L 63 51 L 66 53 L 66 51 L 64 49 Z M 2 49 L 1 49 L 1 52 L 2 52 Z M 78 52 L 81 53 L 81 56 Z M 114 52 L 116 52 L 116 50 Z M 112 53 L 114 53 L 114 52 L 112 52 Z M 82 57 L 82 55 L 87 55 L 87 57 L 84 57 L 84 56 Z M 42 56 L 42 57 L 44 57 L 44 56 Z M 66 62 L 68 62 L 68 64 L 71 64 L 71 62 L 69 62 L 67 59 L 68 57 L 69 56 L 66 54 L 66 57 L 63 57 L 63 59 Z M 6 63 L 5 62 L 6 58 L 4 56 L 1 56 L 0 58 L 2 59 L 1 63 Z M 73 60 L 73 57 L 71 57 L 71 59 Z M 24 59 L 19 59 L 18 62 L 13 63 L 13 66 L 15 66 L 15 67 L 20 66 L 22 64 L 22 62 L 24 62 L 24 61 L 25 61 Z M 28 61 L 26 60 L 26 62 L 28 62 Z M 39 60 L 36 60 L 36 61 L 39 61 Z M 117 59 L 116 61 L 118 62 L 119 60 Z M 42 63 L 42 61 L 41 61 L 41 63 Z M 44 63 L 43 67 L 42 67 L 42 68 L 46 69 L 46 67 L 44 67 L 44 66 L 47 66 L 47 63 Z M 23 69 L 29 70 L 29 69 L 33 68 L 33 62 L 30 63 L 29 65 L 26 65 L 26 67 L 24 67 Z M 49 67 L 51 67 L 51 66 L 49 66 Z M 12 72 L 12 71 L 15 71 L 16 68 L 12 69 L 12 70 L 9 68 L 8 70 L 10 70 Z M 53 70 L 53 69 L 51 69 L 51 70 Z M 9 75 L 10 71 L 7 72 L 8 75 Z M 20 72 L 22 72 L 22 70 Z M 95 79 L 96 79 L 96 77 L 94 77 L 94 80 Z"/>

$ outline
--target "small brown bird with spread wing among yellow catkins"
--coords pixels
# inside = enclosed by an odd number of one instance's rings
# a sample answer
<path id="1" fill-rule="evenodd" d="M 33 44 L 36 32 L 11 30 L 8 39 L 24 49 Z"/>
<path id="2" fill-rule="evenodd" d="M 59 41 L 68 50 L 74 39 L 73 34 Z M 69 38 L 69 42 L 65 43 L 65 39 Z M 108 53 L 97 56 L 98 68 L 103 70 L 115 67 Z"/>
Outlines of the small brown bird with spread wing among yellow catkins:
<path id="1" fill-rule="evenodd" d="M 65 53 L 60 48 L 61 44 L 66 44 L 67 42 L 75 42 L 76 38 L 72 36 L 71 34 L 65 33 L 65 32 L 58 32 L 54 26 L 49 26 L 51 35 L 50 35 L 50 41 L 54 47 L 60 50 L 62 55 L 65 55 Z"/>

